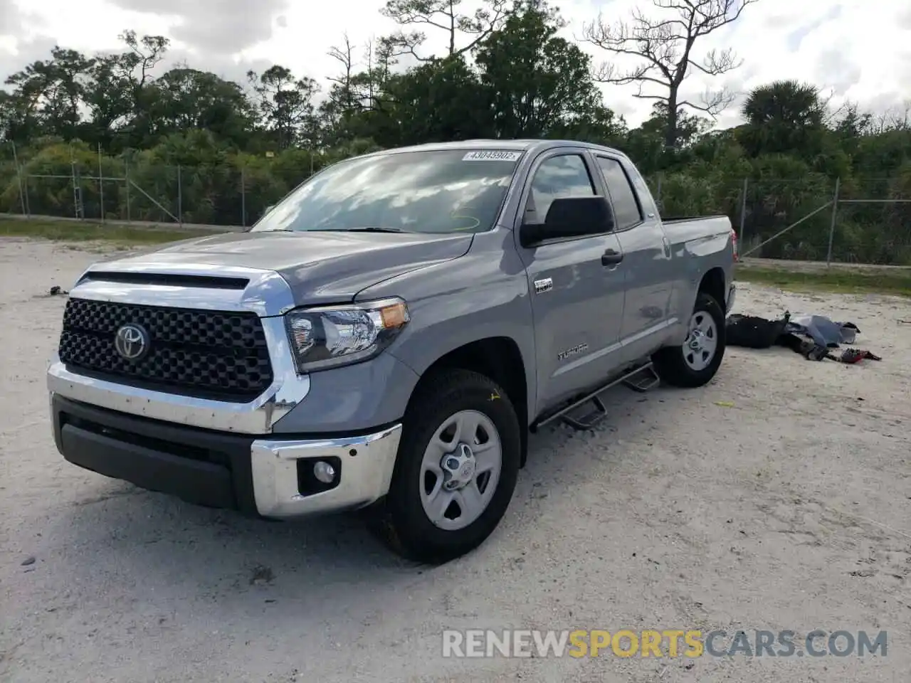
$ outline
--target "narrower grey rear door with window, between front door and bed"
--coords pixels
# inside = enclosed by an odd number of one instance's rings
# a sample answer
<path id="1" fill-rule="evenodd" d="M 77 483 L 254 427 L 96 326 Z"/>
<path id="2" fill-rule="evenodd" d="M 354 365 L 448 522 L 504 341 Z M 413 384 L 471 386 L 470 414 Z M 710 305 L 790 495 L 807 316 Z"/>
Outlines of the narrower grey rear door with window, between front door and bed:
<path id="1" fill-rule="evenodd" d="M 670 242 L 640 175 L 629 160 L 595 152 L 614 210 L 623 251 L 626 302 L 619 342 L 623 362 L 634 362 L 667 340 L 670 326 Z M 640 185 L 642 191 L 637 190 Z"/>

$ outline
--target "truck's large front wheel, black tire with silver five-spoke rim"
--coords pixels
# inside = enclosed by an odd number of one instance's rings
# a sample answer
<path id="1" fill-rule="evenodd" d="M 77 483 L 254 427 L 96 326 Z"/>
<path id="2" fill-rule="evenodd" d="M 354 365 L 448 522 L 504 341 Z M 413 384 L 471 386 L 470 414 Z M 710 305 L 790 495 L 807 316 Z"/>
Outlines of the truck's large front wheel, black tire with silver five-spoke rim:
<path id="1" fill-rule="evenodd" d="M 418 562 L 465 555 L 506 513 L 520 454 L 517 413 L 496 382 L 465 370 L 435 373 L 405 413 L 374 531 L 395 553 Z"/>

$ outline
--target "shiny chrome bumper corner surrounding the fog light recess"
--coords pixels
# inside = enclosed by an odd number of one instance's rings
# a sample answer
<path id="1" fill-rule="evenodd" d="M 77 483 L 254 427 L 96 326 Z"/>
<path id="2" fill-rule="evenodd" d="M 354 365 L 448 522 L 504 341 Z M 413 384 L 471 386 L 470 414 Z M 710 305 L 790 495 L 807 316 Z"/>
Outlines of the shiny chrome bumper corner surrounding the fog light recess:
<path id="1" fill-rule="evenodd" d="M 370 505 L 389 492 L 395 455 L 402 435 L 396 424 L 380 432 L 351 438 L 306 441 L 254 441 L 251 448 L 253 494 L 260 515 L 285 519 Z M 328 491 L 302 495 L 298 462 L 337 457 L 338 484 Z M 312 465 L 311 465 L 312 466 Z"/>

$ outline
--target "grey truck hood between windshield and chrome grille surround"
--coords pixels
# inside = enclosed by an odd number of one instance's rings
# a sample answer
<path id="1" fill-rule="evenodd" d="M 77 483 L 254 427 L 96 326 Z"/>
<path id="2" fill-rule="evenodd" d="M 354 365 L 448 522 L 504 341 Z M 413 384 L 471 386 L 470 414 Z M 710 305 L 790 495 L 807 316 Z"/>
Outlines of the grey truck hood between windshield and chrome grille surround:
<path id="1" fill-rule="evenodd" d="M 472 236 L 389 232 L 236 232 L 183 240 L 108 260 L 103 270 L 168 272 L 200 266 L 275 270 L 297 305 L 353 299 L 378 282 L 466 254 Z"/>

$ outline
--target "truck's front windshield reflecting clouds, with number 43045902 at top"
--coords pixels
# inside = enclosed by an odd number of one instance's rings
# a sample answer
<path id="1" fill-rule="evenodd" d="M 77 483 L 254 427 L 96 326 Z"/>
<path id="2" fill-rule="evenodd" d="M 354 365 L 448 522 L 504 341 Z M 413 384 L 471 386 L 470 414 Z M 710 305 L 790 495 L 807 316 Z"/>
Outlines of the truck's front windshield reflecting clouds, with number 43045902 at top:
<path id="1" fill-rule="evenodd" d="M 253 231 L 493 229 L 519 150 L 398 152 L 342 161 L 313 176 Z"/>

